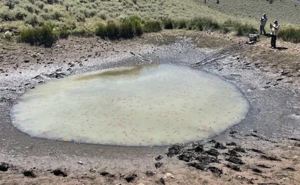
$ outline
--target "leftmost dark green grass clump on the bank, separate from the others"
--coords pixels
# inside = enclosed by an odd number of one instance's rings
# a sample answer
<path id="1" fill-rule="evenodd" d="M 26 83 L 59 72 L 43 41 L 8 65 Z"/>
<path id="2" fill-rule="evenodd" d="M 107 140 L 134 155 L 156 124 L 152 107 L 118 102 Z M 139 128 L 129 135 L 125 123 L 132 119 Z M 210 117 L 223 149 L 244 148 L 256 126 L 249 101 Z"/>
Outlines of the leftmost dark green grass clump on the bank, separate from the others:
<path id="1" fill-rule="evenodd" d="M 19 41 L 30 43 L 31 45 L 51 47 L 57 40 L 53 26 L 44 24 L 42 27 L 26 29 L 20 32 Z"/>

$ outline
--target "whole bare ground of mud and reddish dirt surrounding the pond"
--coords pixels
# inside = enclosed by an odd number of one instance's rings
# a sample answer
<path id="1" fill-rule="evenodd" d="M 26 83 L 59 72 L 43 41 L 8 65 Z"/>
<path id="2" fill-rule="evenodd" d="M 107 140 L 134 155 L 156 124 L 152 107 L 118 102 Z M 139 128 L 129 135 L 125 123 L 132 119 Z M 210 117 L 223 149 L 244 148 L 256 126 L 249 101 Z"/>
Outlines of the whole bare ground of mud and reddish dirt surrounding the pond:
<path id="1" fill-rule="evenodd" d="M 70 37 L 52 48 L 1 43 L 0 184 L 300 184 L 300 45 L 245 41 L 175 30 L 113 42 Z M 234 83 L 251 105 L 245 120 L 205 141 L 153 148 L 49 141 L 10 123 L 13 100 L 38 84 L 165 62 Z"/>

